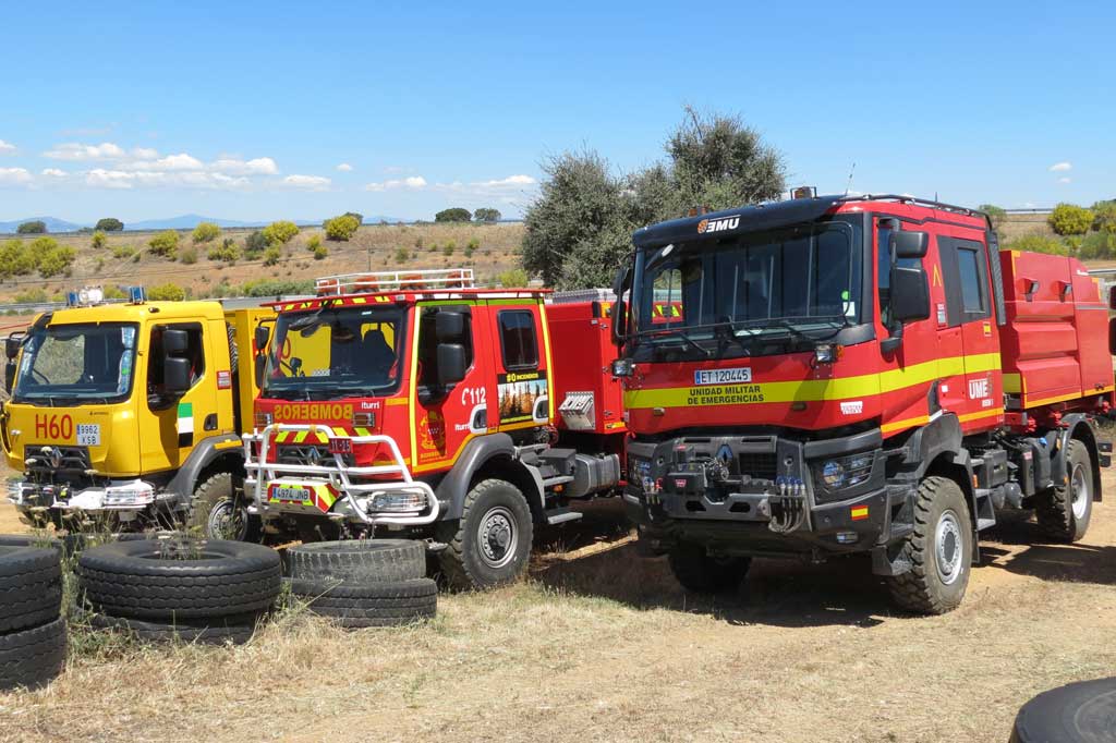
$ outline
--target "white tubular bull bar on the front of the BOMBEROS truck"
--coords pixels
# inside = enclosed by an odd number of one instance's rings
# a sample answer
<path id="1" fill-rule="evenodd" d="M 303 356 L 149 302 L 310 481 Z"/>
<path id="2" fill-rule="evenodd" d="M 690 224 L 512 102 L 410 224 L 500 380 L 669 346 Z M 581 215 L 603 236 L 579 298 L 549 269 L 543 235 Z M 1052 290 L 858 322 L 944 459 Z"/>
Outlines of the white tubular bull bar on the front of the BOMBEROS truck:
<path id="1" fill-rule="evenodd" d="M 294 432 L 327 441 L 348 440 L 348 448 L 379 445 L 391 453 L 386 464 L 355 466 L 336 453 L 315 464 L 272 460 L 276 434 Z M 406 460 L 391 436 L 350 436 L 320 424 L 271 424 L 244 434 L 244 494 L 249 513 L 264 521 L 285 517 L 329 518 L 355 525 L 420 527 L 433 523 L 441 504 L 429 483 L 411 475 Z"/>

